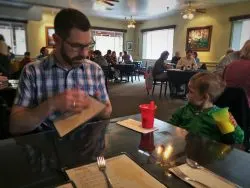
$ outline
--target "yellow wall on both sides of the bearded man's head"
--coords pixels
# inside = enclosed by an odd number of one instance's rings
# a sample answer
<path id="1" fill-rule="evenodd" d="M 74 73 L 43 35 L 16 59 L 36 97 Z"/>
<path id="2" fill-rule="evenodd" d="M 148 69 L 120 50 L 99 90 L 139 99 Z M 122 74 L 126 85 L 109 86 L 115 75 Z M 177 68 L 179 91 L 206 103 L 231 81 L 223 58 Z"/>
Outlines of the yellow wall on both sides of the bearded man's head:
<path id="1" fill-rule="evenodd" d="M 50 13 L 43 13 L 41 21 L 29 21 L 27 24 L 28 51 L 31 52 L 31 57 L 39 54 L 40 48 L 46 46 L 45 27 L 53 26 L 54 16 Z M 92 26 L 127 29 L 126 23 L 120 20 L 111 20 L 97 17 L 89 17 Z M 124 47 L 126 41 L 134 41 L 134 32 L 128 30 L 124 36 Z"/>

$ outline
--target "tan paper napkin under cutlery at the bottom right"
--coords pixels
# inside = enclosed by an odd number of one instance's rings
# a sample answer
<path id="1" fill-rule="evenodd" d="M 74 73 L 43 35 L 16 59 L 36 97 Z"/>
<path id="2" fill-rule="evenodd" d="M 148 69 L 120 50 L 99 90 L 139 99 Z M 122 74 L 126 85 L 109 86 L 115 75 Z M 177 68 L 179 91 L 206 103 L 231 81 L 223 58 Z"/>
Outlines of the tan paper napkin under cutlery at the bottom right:
<path id="1" fill-rule="evenodd" d="M 221 187 L 223 187 L 223 188 L 233 188 L 233 187 L 237 187 L 236 184 L 224 179 L 221 176 L 218 176 L 217 174 L 209 171 L 206 168 L 195 169 L 195 168 L 192 168 L 192 167 L 188 166 L 187 164 L 183 164 L 183 165 L 180 165 L 180 166 L 174 167 L 174 168 L 179 168 L 179 170 L 181 170 L 189 178 L 195 179 L 195 180 L 207 185 L 208 187 L 213 187 L 213 188 L 221 188 Z M 172 173 L 174 173 L 176 176 L 178 176 L 173 171 L 174 168 L 170 168 L 169 170 Z M 183 180 L 183 181 L 185 181 L 185 180 Z M 192 185 L 193 187 L 202 188 L 202 186 L 200 184 L 197 184 L 196 182 L 192 182 L 192 181 L 186 181 L 186 182 L 189 183 L 190 185 Z"/>

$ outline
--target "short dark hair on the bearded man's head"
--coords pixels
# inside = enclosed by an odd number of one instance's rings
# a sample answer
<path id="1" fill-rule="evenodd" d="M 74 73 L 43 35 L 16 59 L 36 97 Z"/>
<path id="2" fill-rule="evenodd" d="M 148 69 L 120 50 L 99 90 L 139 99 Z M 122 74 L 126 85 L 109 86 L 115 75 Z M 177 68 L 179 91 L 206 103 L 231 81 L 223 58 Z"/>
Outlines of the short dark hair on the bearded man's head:
<path id="1" fill-rule="evenodd" d="M 72 8 L 62 9 L 54 20 L 55 33 L 63 39 L 70 35 L 73 28 L 89 31 L 89 19 L 80 11 Z"/>

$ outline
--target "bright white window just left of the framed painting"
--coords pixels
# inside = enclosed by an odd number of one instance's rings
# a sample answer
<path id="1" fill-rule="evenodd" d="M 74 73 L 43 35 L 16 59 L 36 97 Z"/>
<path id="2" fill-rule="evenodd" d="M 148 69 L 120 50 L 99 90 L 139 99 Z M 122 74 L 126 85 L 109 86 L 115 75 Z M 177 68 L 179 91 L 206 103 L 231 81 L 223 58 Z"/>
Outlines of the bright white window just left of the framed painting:
<path id="1" fill-rule="evenodd" d="M 143 32 L 143 59 L 158 59 L 163 51 L 169 52 L 172 59 L 174 29 L 162 29 Z"/>

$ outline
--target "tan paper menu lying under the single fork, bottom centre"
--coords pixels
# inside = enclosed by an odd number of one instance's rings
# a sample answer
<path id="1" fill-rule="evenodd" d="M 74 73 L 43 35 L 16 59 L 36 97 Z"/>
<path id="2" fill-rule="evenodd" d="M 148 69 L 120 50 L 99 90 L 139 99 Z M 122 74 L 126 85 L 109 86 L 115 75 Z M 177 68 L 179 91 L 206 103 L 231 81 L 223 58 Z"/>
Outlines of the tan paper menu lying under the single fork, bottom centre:
<path id="1" fill-rule="evenodd" d="M 106 173 L 114 188 L 161 188 L 165 187 L 126 155 L 106 160 Z M 66 174 L 78 188 L 106 188 L 104 175 L 97 163 L 66 170 Z"/>

